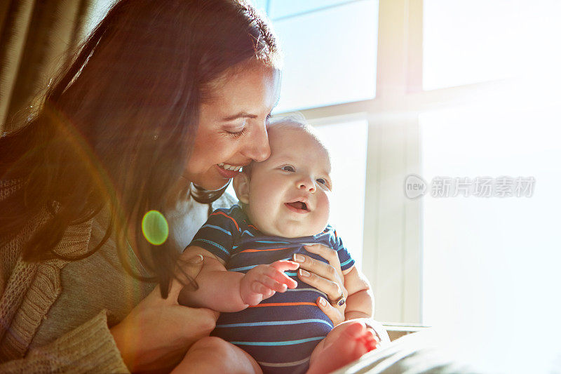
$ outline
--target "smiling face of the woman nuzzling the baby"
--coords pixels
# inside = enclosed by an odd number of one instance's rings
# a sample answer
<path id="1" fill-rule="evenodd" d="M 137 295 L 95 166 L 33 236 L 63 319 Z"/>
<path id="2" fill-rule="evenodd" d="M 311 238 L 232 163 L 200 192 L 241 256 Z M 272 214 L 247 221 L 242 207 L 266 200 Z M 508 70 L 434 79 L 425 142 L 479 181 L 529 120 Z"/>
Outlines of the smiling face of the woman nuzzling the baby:
<path id="1" fill-rule="evenodd" d="M 279 72 L 259 62 L 219 81 L 201 105 L 193 152 L 184 178 L 208 190 L 223 187 L 271 149 L 266 124 L 278 101 Z"/>

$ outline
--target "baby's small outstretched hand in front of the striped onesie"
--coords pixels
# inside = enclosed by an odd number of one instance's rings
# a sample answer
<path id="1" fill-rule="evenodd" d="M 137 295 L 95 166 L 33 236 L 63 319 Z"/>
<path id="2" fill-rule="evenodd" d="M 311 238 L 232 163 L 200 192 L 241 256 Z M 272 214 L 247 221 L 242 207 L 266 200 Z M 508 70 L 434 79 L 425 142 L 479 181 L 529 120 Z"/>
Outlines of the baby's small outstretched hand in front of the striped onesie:
<path id="1" fill-rule="evenodd" d="M 271 265 L 257 265 L 241 279 L 241 300 L 248 305 L 257 305 L 277 291 L 285 292 L 287 288 L 296 288 L 297 281 L 284 272 L 296 270 L 298 266 L 297 262 L 287 260 L 273 262 Z"/>

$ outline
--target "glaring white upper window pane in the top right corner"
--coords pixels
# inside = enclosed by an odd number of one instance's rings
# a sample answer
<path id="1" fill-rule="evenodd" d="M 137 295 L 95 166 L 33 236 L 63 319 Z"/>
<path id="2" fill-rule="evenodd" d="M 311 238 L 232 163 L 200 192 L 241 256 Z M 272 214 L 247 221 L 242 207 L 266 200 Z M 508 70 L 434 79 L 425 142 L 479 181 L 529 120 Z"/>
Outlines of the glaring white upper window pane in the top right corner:
<path id="1" fill-rule="evenodd" d="M 424 0 L 423 88 L 518 76 L 559 57 L 557 0 Z"/>

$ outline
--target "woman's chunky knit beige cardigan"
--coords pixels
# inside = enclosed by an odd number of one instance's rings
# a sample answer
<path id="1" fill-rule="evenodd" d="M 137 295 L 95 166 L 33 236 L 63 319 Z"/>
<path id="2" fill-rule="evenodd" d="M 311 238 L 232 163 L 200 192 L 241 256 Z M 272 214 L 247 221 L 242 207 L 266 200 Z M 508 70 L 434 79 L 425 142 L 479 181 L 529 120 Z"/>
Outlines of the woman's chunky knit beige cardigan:
<path id="1" fill-rule="evenodd" d="M 18 188 L 0 181 L 0 200 Z M 22 246 L 48 219 L 45 210 L 11 239 L 0 238 L 0 373 L 128 373 L 109 327 L 107 312 L 43 347 L 29 349 L 39 325 L 61 293 L 63 260 L 24 262 Z M 88 250 L 92 221 L 69 227 L 55 248 L 75 256 Z"/>

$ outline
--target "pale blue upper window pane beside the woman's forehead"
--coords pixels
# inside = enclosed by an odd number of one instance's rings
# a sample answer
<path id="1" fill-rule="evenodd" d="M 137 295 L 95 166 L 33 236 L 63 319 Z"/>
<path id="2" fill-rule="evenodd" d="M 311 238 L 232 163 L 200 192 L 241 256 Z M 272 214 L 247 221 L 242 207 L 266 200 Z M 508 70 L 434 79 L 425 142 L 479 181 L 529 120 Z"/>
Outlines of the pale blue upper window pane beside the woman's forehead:
<path id="1" fill-rule="evenodd" d="M 273 21 L 285 54 L 276 112 L 374 98 L 378 2 Z"/>

